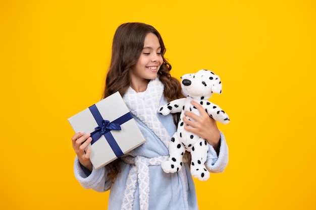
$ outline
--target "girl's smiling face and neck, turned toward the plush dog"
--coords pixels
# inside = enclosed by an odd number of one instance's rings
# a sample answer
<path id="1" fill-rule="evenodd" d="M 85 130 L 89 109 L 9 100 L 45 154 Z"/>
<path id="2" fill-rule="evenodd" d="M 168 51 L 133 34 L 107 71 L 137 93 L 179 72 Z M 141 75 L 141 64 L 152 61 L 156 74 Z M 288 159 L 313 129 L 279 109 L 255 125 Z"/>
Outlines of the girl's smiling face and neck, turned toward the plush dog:
<path id="1" fill-rule="evenodd" d="M 153 33 L 148 33 L 140 57 L 130 71 L 130 86 L 136 92 L 145 91 L 149 80 L 157 77 L 162 64 L 163 57 L 158 37 Z"/>

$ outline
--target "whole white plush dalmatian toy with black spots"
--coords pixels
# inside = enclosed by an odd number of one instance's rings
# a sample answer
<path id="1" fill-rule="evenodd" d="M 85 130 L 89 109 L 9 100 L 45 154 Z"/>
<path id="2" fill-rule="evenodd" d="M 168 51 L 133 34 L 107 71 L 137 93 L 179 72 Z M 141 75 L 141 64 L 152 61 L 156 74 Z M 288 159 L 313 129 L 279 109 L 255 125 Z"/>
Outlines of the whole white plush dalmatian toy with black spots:
<path id="1" fill-rule="evenodd" d="M 200 115 L 198 110 L 190 103 L 192 100 L 202 105 L 204 110 L 215 120 L 227 124 L 230 120 L 228 115 L 216 104 L 208 99 L 213 93 L 222 93 L 222 83 L 220 77 L 206 69 L 201 69 L 195 74 L 186 74 L 181 77 L 182 92 L 186 98 L 177 99 L 159 107 L 159 113 L 168 115 L 169 113 L 179 113 L 180 121 L 177 131 L 171 138 L 169 145 L 169 159 L 162 163 L 162 168 L 166 173 L 174 173 L 181 169 L 182 159 L 185 151 L 191 153 L 191 174 L 201 181 L 209 178 L 209 172 L 205 167 L 208 152 L 208 144 L 205 139 L 184 129 L 187 126 L 182 118 L 184 111 L 191 111 Z M 189 120 L 193 120 L 190 119 Z"/>

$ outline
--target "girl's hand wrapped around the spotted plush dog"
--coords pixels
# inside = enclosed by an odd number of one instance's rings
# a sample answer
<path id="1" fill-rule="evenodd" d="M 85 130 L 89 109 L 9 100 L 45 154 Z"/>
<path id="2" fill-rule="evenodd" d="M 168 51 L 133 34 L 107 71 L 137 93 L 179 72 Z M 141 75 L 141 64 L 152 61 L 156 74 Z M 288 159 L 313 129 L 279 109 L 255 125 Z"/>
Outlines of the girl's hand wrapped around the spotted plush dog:
<path id="1" fill-rule="evenodd" d="M 216 120 L 210 117 L 199 103 L 191 101 L 191 104 L 197 108 L 198 112 L 200 113 L 200 116 L 194 114 L 193 112 L 184 112 L 185 116 L 188 116 L 195 120 L 194 122 L 188 120 L 186 117 L 183 117 L 184 123 L 190 125 L 185 126 L 184 129 L 206 139 L 208 144 L 212 145 L 215 151 L 218 152 L 221 133 L 217 127 Z"/>

